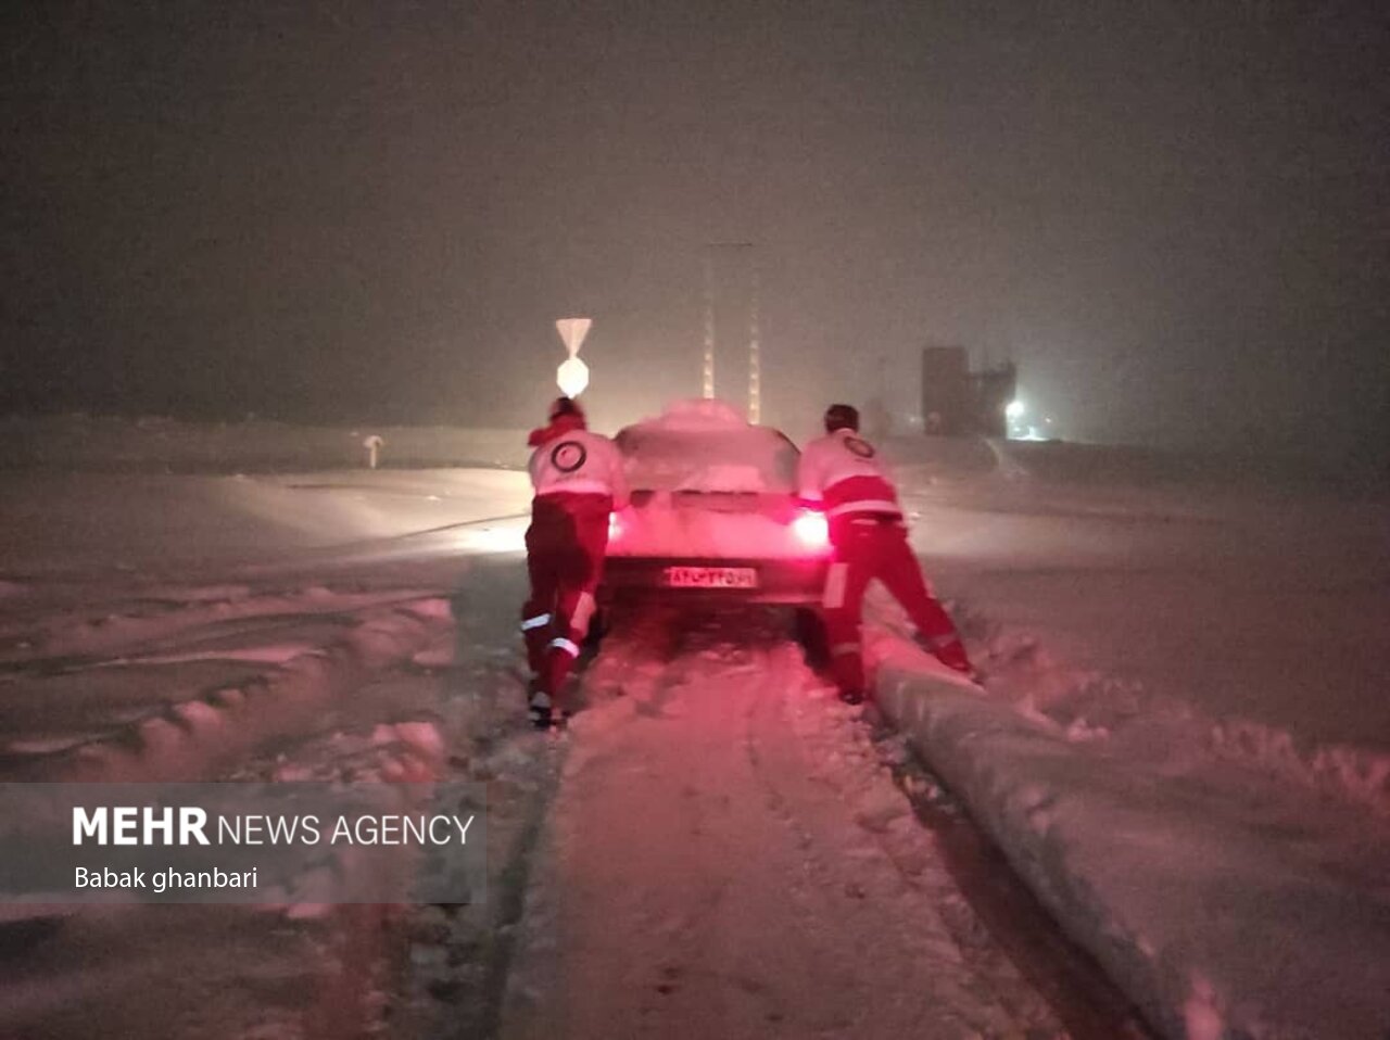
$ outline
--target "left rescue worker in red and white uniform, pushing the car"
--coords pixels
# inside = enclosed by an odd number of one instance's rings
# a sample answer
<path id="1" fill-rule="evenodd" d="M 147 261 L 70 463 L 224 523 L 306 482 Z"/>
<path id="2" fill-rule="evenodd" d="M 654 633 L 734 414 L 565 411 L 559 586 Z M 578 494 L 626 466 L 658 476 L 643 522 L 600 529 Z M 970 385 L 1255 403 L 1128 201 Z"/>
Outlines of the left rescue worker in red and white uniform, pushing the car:
<path id="1" fill-rule="evenodd" d="M 531 596 L 521 608 L 531 719 L 542 729 L 564 715 L 560 695 L 594 617 L 609 514 L 627 505 L 623 456 L 589 432 L 578 403 L 556 399 L 549 420 L 527 441 L 535 496 L 525 533 Z"/>

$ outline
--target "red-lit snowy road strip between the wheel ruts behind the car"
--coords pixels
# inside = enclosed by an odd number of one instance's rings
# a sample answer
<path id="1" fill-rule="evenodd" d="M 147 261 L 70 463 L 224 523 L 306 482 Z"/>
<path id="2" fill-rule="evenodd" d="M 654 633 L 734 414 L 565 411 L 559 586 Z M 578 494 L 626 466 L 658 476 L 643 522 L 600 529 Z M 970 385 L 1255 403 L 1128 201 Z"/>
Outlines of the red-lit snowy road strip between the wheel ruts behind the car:
<path id="1" fill-rule="evenodd" d="M 585 676 L 502 1034 L 1066 1034 L 894 783 L 901 744 L 776 617 L 688 621 L 634 621 Z M 1056 968 L 1072 1036 L 1131 1034 Z"/>

